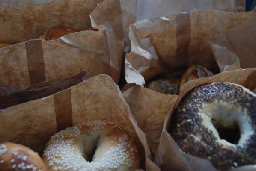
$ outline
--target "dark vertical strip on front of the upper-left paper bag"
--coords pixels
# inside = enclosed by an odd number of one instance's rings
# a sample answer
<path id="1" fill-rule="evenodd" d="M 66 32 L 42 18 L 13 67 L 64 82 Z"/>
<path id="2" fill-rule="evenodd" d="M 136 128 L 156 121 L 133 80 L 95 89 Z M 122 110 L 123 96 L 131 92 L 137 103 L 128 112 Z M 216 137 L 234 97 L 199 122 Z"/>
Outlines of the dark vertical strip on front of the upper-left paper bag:
<path id="1" fill-rule="evenodd" d="M 30 85 L 45 81 L 45 62 L 42 40 L 25 42 Z"/>

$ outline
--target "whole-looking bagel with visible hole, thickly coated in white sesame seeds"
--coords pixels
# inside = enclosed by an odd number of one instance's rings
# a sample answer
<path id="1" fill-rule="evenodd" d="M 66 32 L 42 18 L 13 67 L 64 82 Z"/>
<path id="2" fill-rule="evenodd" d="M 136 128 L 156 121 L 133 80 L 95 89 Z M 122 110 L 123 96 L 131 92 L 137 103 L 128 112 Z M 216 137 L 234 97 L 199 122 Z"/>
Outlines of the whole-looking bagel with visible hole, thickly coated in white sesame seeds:
<path id="1" fill-rule="evenodd" d="M 108 121 L 90 121 L 56 133 L 46 144 L 48 171 L 133 171 L 140 156 L 128 135 Z"/>

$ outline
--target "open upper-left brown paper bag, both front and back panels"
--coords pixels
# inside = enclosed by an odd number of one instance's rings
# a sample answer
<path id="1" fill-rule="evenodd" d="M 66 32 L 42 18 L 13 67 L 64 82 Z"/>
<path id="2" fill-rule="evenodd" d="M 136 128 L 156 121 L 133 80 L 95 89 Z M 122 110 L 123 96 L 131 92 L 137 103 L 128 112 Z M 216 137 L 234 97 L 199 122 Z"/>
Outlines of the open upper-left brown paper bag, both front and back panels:
<path id="1" fill-rule="evenodd" d="M 101 3 L 102 2 L 102 3 Z M 117 3 L 115 3 L 117 2 Z M 101 14 L 107 27 L 122 27 L 122 12 L 119 1 L 103 0 L 54 0 L 10 4 L 0 10 L 0 43 L 14 44 L 0 49 L 0 84 L 26 88 L 33 83 L 70 77 L 86 70 L 89 77 L 109 74 L 118 82 L 121 70 L 122 46 L 116 52 L 109 42 L 121 44 L 116 32 L 107 34 L 106 27 L 95 27 L 98 31 L 81 31 L 53 41 L 30 40 L 53 26 L 67 26 L 78 30 L 91 27 L 89 14 Z M 102 11 L 95 9 L 100 3 Z M 111 8 L 106 9 L 106 6 Z M 95 10 L 93 10 L 95 9 Z M 109 14 L 116 9 L 115 20 Z M 107 17 L 106 17 L 107 16 Z M 113 16 L 113 15 L 112 15 Z M 100 18 L 91 19 L 98 22 Z M 30 41 L 28 41 L 30 40 Z M 25 41 L 25 42 L 24 42 Z M 21 42 L 21 43 L 18 43 Z M 18 43 L 18 44 L 15 44 Z M 8 75 L 8 76 L 7 76 Z"/>

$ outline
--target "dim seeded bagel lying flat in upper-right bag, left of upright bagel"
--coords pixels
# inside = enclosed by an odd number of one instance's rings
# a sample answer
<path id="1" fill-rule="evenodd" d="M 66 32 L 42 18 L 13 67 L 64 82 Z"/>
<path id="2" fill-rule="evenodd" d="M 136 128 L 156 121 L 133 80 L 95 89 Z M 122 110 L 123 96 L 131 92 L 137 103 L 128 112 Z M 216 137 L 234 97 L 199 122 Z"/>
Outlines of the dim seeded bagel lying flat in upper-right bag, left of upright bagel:
<path id="1" fill-rule="evenodd" d="M 161 78 L 146 84 L 146 88 L 158 93 L 178 94 L 179 79 Z"/>

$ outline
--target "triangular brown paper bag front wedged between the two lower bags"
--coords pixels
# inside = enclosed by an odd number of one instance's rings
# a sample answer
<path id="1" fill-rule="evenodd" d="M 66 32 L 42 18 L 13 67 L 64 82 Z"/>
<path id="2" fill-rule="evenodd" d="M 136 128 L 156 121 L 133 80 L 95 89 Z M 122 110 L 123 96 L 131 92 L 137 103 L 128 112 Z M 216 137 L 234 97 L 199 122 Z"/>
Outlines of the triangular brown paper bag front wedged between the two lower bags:
<path id="1" fill-rule="evenodd" d="M 152 155 L 160 142 L 164 119 L 175 105 L 176 95 L 158 93 L 135 85 L 123 92 L 138 126 L 146 134 Z"/>

